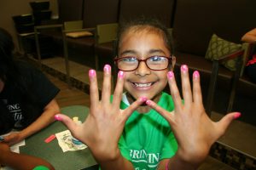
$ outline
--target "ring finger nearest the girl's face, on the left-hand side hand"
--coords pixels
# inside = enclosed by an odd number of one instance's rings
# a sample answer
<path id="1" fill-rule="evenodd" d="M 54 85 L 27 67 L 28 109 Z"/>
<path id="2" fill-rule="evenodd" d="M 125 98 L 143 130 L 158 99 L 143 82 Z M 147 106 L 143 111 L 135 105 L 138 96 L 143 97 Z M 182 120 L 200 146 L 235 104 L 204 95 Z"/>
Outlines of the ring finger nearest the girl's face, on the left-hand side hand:
<path id="1" fill-rule="evenodd" d="M 123 94 L 123 88 L 124 88 L 124 77 L 125 77 L 124 71 L 119 71 L 118 80 L 113 93 L 113 105 L 118 105 L 118 106 L 120 105 L 122 94 Z"/>

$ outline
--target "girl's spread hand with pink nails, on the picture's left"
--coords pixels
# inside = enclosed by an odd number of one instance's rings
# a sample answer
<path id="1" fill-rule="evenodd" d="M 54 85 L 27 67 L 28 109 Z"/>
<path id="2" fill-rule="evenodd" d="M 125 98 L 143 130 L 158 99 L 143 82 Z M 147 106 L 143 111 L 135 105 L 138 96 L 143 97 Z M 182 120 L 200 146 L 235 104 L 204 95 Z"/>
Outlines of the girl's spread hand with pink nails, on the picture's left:
<path id="1" fill-rule="evenodd" d="M 118 142 L 123 132 L 125 122 L 131 113 L 139 105 L 145 102 L 145 98 L 137 99 L 127 109 L 120 110 L 124 77 L 123 71 L 119 71 L 118 81 L 111 96 L 111 67 L 104 66 L 104 78 L 102 85 L 102 99 L 99 97 L 96 71 L 89 71 L 90 77 L 90 113 L 82 125 L 77 125 L 68 116 L 58 114 L 55 119 L 63 122 L 72 135 L 88 145 L 97 161 L 110 161 L 119 156 Z"/>

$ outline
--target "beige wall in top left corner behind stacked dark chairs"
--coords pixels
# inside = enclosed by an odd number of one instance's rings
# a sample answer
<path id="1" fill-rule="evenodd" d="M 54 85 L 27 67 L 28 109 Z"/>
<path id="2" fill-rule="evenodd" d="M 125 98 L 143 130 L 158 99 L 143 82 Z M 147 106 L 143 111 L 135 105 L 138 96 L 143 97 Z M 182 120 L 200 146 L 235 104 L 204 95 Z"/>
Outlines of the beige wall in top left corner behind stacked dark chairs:
<path id="1" fill-rule="evenodd" d="M 12 16 L 32 13 L 29 2 L 32 0 L 0 0 L 0 27 L 9 31 L 14 37 L 16 47 L 18 47 L 18 41 Z M 53 17 L 56 17 L 58 15 L 57 0 L 49 0 L 49 2 Z"/>

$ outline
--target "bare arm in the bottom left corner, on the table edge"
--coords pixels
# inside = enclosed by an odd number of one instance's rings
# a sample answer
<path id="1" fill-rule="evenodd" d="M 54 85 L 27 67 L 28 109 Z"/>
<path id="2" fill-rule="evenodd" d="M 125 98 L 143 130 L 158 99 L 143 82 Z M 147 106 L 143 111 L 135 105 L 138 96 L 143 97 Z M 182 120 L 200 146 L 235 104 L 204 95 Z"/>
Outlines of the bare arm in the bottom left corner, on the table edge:
<path id="1" fill-rule="evenodd" d="M 50 170 L 55 168 L 44 159 L 28 156 L 24 154 L 18 154 L 9 150 L 8 144 L 0 143 L 0 165 L 12 167 L 14 169 L 33 169 L 34 167 L 44 166 Z"/>

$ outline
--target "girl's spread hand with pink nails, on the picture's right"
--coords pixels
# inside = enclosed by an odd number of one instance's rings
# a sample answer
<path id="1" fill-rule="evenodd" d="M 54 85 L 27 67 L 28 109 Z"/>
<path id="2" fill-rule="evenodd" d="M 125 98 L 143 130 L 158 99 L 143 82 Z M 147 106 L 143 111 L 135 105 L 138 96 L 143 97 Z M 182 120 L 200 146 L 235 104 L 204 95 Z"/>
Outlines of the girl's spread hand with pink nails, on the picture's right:
<path id="1" fill-rule="evenodd" d="M 199 164 L 207 157 L 212 144 L 224 134 L 230 122 L 239 117 L 240 113 L 233 112 L 224 116 L 219 122 L 212 122 L 202 103 L 199 72 L 195 71 L 193 74 L 191 91 L 188 70 L 187 65 L 181 66 L 183 100 L 173 72 L 168 72 L 168 82 L 175 105 L 174 111 L 165 111 L 152 100 L 148 100 L 146 104 L 164 116 L 171 125 L 179 146 L 177 155 L 183 161 Z"/>

